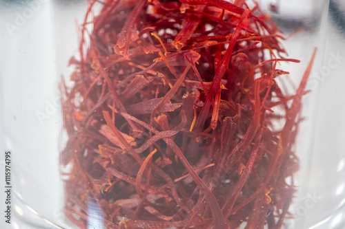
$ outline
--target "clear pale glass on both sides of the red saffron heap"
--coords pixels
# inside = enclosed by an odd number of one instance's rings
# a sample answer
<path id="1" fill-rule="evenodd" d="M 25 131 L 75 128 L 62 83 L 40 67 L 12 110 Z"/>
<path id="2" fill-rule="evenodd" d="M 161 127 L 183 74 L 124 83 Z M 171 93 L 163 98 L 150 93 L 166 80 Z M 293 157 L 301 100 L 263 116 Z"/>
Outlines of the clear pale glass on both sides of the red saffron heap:
<path id="1" fill-rule="evenodd" d="M 345 4 L 331 1 L 328 11 L 328 1 L 259 3 L 285 36 L 299 30 L 283 44 L 301 63 L 279 66 L 295 85 L 318 48 L 297 137 L 293 217 L 285 228 L 345 228 Z M 1 228 L 78 228 L 64 210 L 69 168 L 61 168 L 60 153 L 68 136 L 59 85 L 62 77 L 72 87 L 68 61 L 78 56 L 87 8 L 82 0 L 0 1 L 0 146 L 13 155 L 12 223 L 1 221 Z M 3 153 L 0 162 L 2 169 Z M 88 228 L 103 228 L 99 206 L 89 206 Z"/>

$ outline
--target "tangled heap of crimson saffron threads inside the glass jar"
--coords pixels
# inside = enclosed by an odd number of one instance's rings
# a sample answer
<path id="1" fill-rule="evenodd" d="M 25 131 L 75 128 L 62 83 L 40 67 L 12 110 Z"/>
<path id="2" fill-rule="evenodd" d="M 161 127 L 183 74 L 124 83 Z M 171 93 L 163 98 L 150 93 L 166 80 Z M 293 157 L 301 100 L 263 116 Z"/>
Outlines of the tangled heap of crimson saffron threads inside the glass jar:
<path id="1" fill-rule="evenodd" d="M 293 149 L 315 56 L 286 94 L 277 66 L 299 61 L 284 58 L 283 39 L 243 0 L 89 2 L 74 86 L 61 84 L 68 219 L 282 228 L 293 217 Z"/>

